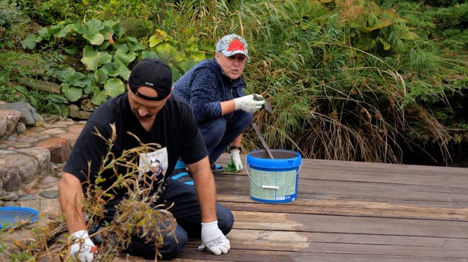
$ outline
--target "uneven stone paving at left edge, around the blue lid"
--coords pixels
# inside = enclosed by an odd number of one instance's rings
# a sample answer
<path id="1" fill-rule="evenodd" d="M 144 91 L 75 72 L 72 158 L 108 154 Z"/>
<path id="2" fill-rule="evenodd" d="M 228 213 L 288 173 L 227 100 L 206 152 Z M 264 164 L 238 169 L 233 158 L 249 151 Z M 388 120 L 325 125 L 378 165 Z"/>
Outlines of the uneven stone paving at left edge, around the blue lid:
<path id="1" fill-rule="evenodd" d="M 33 208 L 40 216 L 20 231 L 0 231 L 0 242 L 13 249 L 18 241 L 37 241 L 33 229 L 59 217 L 62 167 L 85 125 L 59 116 L 38 116 L 35 125 L 20 119 L 14 111 L 0 109 L 0 206 Z M 5 253 L 0 252 L 0 261 L 8 261 Z"/>

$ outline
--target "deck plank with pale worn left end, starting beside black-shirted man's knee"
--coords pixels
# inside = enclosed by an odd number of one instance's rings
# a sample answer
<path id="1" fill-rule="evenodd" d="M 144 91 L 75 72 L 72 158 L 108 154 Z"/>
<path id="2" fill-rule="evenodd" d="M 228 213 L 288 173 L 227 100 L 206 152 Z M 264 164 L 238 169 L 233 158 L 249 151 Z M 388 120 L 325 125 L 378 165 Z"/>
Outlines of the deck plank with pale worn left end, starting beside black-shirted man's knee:
<path id="1" fill-rule="evenodd" d="M 432 236 L 468 240 L 468 222 L 339 215 L 303 215 L 233 211 L 236 229 L 388 236 Z M 467 241 L 468 243 L 468 241 Z M 467 246 L 468 247 L 468 246 Z"/>

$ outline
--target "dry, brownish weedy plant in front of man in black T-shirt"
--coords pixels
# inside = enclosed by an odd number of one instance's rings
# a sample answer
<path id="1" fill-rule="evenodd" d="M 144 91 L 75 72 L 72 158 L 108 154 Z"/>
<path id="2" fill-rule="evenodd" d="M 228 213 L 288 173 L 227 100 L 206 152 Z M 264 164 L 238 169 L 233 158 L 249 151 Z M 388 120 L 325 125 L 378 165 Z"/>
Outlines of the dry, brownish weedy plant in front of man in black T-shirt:
<path id="1" fill-rule="evenodd" d="M 95 182 L 89 183 L 83 199 L 77 199 L 78 205 L 75 204 L 75 206 L 82 205 L 86 214 L 87 229 L 90 230 L 96 223 L 101 222 L 105 215 L 105 205 L 115 198 L 114 190 L 124 188 L 128 192 L 126 197 L 115 206 L 116 213 L 112 221 L 106 222 L 97 232 L 103 239 L 103 243 L 98 247 L 94 256 L 96 261 L 112 261 L 115 256 L 129 247 L 133 235 L 144 236 L 148 242 L 154 241 L 157 253 L 157 247 L 163 244 L 161 228 L 165 233 L 172 233 L 176 225 L 175 219 L 168 210 L 162 206 L 154 206 L 159 195 L 154 194 L 152 187 L 147 184 L 148 180 L 145 177 L 147 174 L 143 172 L 142 176 L 138 176 L 138 164 L 136 164 L 138 155 L 153 151 L 159 145 L 140 143 L 141 146 L 138 148 L 124 151 L 122 155 L 115 157 L 111 153 L 116 137 L 115 125 L 111 127 L 112 136 L 108 139 L 98 131 L 94 133 L 105 140 L 109 150 L 103 158 L 100 171 L 95 175 Z M 138 139 L 135 135 L 130 135 Z M 125 174 L 119 174 L 122 168 L 127 170 Z M 101 174 L 106 170 L 112 170 L 114 177 L 103 178 Z M 114 182 L 110 187 L 103 187 L 102 183 L 108 179 L 113 179 Z M 10 231 L 18 230 L 21 230 L 21 226 L 10 229 Z M 38 261 L 45 257 L 52 260 L 74 261 L 74 258 L 68 255 L 68 248 L 73 242 L 71 238 L 68 238 L 62 216 L 57 217 L 47 226 L 35 228 L 33 231 L 37 235 L 37 241 L 17 241 L 15 245 L 19 249 L 6 248 L 10 261 Z M 90 236 L 95 236 L 97 233 Z M 158 254 L 155 254 L 155 261 L 157 258 Z"/>

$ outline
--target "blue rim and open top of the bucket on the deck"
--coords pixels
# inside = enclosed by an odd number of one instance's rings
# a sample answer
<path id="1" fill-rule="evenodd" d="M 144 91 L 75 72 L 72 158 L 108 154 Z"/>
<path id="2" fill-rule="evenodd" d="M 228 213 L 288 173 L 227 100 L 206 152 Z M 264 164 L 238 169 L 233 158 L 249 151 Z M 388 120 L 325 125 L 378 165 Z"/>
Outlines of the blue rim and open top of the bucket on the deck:
<path id="1" fill-rule="evenodd" d="M 270 150 L 274 159 L 270 159 L 265 150 L 250 151 L 247 154 L 247 164 L 267 169 L 289 169 L 302 164 L 300 153 L 288 150 Z"/>

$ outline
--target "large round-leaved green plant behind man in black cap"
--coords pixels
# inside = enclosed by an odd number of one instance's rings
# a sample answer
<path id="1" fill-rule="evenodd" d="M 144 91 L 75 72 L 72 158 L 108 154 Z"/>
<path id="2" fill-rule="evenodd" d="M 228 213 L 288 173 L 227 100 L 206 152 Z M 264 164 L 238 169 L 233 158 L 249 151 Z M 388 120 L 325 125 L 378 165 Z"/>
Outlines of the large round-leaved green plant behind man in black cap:
<path id="1" fill-rule="evenodd" d="M 75 54 L 82 47 L 80 61 L 86 71 L 76 72 L 74 68 L 61 70 L 61 91 L 69 101 L 75 102 L 83 94 L 91 95 L 92 102 L 100 105 L 110 97 L 124 92 L 124 81 L 128 79 L 129 64 L 135 61 L 139 52 L 145 49 L 136 38 L 122 36 L 123 31 L 119 22 L 89 20 L 73 24 L 57 24 L 48 29 L 43 28 L 38 35 L 30 34 L 24 41 L 23 47 L 34 49 L 44 40 L 64 39 L 69 43 L 65 50 Z M 82 41 L 77 41 L 76 38 Z"/>

